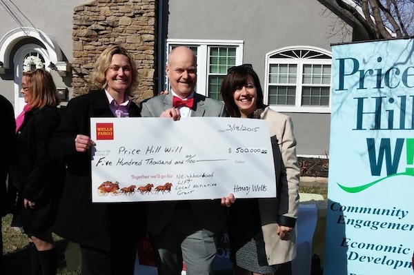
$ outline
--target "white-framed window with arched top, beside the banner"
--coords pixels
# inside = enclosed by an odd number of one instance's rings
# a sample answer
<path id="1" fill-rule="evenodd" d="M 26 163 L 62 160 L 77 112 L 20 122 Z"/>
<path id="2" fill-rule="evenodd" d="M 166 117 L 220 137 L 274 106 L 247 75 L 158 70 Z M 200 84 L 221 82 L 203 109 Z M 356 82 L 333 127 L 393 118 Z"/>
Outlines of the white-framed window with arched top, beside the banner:
<path id="1" fill-rule="evenodd" d="M 331 112 L 331 52 L 314 47 L 266 54 L 265 99 L 279 112 Z"/>

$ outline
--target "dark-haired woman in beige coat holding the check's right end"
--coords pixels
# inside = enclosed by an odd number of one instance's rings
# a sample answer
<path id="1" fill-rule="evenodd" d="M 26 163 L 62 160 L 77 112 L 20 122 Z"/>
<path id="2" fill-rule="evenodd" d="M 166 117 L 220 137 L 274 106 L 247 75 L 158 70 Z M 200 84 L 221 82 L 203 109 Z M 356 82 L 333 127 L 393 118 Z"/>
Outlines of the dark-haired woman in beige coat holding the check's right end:
<path id="1" fill-rule="evenodd" d="M 296 256 L 299 207 L 292 121 L 264 105 L 259 77 L 251 65 L 230 68 L 220 92 L 230 116 L 268 122 L 275 161 L 277 197 L 240 199 L 230 206 L 228 236 L 234 274 L 288 274 Z"/>

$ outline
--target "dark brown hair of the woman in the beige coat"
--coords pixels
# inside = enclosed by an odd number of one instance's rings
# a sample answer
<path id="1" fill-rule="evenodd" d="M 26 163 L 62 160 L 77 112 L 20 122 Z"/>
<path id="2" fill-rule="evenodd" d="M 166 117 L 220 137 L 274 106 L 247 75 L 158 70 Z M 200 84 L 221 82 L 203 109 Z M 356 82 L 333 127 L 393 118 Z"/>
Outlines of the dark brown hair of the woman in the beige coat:
<path id="1" fill-rule="evenodd" d="M 256 72 L 252 68 L 246 66 L 237 66 L 237 68 L 232 69 L 233 70 L 230 70 L 223 79 L 223 82 L 221 82 L 220 88 L 221 97 L 223 98 L 224 105 L 226 105 L 227 114 L 233 117 L 241 116 L 239 108 L 237 108 L 235 99 L 233 98 L 233 94 L 235 93 L 235 90 L 248 85 L 248 82 L 252 80 L 257 92 L 256 108 L 265 108 L 266 105 L 263 103 L 262 85 L 260 85 L 259 77 Z"/>

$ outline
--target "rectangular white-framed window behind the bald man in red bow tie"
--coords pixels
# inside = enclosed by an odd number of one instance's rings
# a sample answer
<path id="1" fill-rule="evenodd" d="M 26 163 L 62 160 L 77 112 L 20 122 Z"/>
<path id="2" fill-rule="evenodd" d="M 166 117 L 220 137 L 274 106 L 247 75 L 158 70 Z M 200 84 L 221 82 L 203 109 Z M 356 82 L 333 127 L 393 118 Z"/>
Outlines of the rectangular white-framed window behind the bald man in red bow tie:
<path id="1" fill-rule="evenodd" d="M 195 91 L 222 100 L 221 82 L 226 77 L 228 68 L 242 64 L 243 41 L 168 39 L 168 52 L 179 45 L 187 46 L 197 57 Z M 168 79 L 166 81 L 168 87 Z"/>

